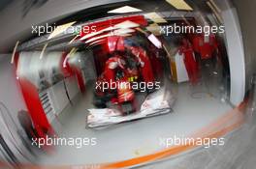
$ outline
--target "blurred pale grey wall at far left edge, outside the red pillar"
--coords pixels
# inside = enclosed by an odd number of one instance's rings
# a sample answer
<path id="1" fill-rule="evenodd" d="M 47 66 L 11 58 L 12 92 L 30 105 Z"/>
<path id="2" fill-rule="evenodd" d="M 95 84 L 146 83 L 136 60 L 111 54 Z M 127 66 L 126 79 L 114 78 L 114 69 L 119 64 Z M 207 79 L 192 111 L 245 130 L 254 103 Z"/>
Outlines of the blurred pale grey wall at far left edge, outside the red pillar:
<path id="1" fill-rule="evenodd" d="M 20 138 L 20 134 L 24 136 L 24 131 L 17 120 L 17 112 L 19 110 L 27 110 L 27 108 L 16 81 L 15 66 L 10 61 L 11 55 L 0 55 L 0 133 L 16 159 L 20 162 L 28 162 L 28 159 L 32 159 L 33 156 Z M 8 115 L 11 115 L 13 120 Z M 16 126 L 14 123 L 16 123 Z"/>

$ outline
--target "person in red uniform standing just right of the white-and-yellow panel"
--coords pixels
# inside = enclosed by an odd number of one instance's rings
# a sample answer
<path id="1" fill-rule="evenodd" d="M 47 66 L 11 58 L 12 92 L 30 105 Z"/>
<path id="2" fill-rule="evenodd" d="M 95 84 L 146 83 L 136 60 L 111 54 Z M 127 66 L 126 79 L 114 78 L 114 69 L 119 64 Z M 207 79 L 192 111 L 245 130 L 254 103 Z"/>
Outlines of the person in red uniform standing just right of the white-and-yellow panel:
<path id="1" fill-rule="evenodd" d="M 198 83 L 199 69 L 196 62 L 193 47 L 185 38 L 182 39 L 181 46 L 179 47 L 179 55 L 183 55 L 184 64 L 188 73 L 190 82 L 193 85 Z"/>

